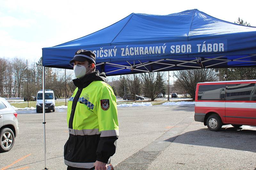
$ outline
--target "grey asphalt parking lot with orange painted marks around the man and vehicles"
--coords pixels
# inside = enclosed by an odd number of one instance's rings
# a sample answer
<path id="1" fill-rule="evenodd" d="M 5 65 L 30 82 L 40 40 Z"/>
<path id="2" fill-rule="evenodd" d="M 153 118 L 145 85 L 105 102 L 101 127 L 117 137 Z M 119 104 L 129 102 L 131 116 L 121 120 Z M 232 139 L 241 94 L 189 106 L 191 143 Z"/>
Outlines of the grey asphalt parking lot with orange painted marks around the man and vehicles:
<path id="1" fill-rule="evenodd" d="M 35 111 L 35 110 L 34 110 Z M 0 170 L 44 169 L 43 114 L 18 111 L 19 136 L 0 153 Z M 23 113 L 23 114 L 21 114 Z M 115 170 L 256 169 L 256 127 L 212 132 L 194 121 L 194 106 L 118 108 Z M 66 110 L 46 113 L 46 166 L 65 170 Z"/>

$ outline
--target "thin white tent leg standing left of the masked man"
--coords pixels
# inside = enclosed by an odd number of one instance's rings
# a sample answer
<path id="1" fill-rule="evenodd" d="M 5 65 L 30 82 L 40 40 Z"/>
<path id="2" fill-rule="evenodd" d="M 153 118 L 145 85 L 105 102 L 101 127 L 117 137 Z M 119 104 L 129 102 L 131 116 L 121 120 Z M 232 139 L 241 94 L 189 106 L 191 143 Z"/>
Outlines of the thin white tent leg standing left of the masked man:
<path id="1" fill-rule="evenodd" d="M 44 72 L 44 66 L 43 66 L 43 70 L 42 70 L 42 72 L 43 72 L 43 80 L 42 80 L 42 82 L 43 82 L 43 126 L 44 126 L 44 169 L 47 169 L 46 168 L 46 139 L 45 139 L 45 124 L 46 124 L 46 122 L 45 122 L 45 105 L 44 105 L 44 103 L 45 103 L 45 77 L 44 77 L 44 74 L 45 74 L 45 72 Z"/>

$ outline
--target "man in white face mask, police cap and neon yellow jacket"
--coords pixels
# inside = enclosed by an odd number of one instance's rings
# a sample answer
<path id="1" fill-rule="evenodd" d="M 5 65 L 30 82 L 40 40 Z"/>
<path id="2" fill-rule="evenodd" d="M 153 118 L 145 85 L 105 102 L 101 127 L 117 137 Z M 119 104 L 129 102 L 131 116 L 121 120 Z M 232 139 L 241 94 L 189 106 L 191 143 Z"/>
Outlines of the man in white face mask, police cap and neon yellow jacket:
<path id="1" fill-rule="evenodd" d="M 116 96 L 105 73 L 95 71 L 92 51 L 78 50 L 73 64 L 77 87 L 68 101 L 69 138 L 64 146 L 67 170 L 106 170 L 116 152 Z"/>

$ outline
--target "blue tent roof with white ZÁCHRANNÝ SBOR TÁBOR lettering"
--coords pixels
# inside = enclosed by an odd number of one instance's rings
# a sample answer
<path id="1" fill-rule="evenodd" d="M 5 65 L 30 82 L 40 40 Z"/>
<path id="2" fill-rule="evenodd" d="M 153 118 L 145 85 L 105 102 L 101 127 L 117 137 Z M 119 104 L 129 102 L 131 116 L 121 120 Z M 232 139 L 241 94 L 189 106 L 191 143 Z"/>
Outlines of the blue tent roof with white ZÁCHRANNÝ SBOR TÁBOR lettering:
<path id="1" fill-rule="evenodd" d="M 72 69 L 69 60 L 78 49 L 94 51 L 97 69 L 107 75 L 255 67 L 256 27 L 197 9 L 169 15 L 132 13 L 100 31 L 43 48 L 43 65 Z"/>

